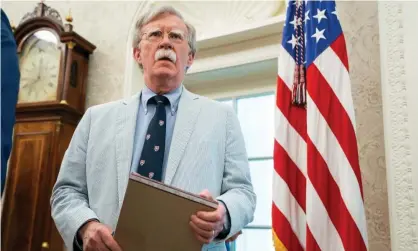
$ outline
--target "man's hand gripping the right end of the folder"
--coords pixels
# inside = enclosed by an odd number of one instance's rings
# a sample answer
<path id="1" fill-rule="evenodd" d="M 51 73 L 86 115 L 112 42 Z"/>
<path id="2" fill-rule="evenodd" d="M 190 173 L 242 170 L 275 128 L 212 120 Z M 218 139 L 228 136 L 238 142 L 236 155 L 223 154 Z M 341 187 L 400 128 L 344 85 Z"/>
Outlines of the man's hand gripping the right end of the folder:
<path id="1" fill-rule="evenodd" d="M 203 190 L 201 197 L 213 200 L 208 190 Z M 196 238 L 202 243 L 210 243 L 219 232 L 222 231 L 226 216 L 226 208 L 219 203 L 218 208 L 213 212 L 200 211 L 190 218 L 190 226 L 193 229 Z"/>

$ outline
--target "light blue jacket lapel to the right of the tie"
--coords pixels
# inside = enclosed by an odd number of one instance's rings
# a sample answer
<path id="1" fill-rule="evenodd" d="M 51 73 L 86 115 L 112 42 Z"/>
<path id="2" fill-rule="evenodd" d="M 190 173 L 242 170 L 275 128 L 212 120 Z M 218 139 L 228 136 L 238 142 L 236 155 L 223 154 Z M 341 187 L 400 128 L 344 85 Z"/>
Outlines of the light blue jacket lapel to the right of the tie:
<path id="1" fill-rule="evenodd" d="M 171 184 L 200 112 L 199 97 L 185 88 L 180 98 L 164 183 Z"/>

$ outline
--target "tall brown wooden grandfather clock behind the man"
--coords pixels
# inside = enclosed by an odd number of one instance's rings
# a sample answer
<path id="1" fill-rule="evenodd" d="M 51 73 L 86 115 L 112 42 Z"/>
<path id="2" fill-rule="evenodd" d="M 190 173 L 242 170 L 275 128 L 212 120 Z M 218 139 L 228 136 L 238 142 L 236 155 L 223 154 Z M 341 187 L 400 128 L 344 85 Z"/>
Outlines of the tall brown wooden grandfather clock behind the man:
<path id="1" fill-rule="evenodd" d="M 95 46 L 38 3 L 15 29 L 20 64 L 13 149 L 2 209 L 1 250 L 63 250 L 50 197 L 63 155 L 84 113 Z"/>

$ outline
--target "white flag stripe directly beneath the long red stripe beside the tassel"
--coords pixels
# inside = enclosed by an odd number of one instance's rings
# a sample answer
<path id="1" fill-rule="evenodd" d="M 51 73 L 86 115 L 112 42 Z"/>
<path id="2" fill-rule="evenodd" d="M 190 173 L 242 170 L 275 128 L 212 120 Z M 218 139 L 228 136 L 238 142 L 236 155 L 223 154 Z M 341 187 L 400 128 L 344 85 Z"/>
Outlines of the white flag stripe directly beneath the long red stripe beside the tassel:
<path id="1" fill-rule="evenodd" d="M 327 171 L 340 189 L 342 200 L 355 224 L 358 226 L 363 241 L 367 240 L 367 228 L 363 199 L 359 186 L 353 186 L 357 179 L 338 140 L 328 127 L 327 121 L 318 111 L 308 95 L 308 136 L 316 151 L 325 161 Z M 332 151 L 330 150 L 332 149 Z"/>

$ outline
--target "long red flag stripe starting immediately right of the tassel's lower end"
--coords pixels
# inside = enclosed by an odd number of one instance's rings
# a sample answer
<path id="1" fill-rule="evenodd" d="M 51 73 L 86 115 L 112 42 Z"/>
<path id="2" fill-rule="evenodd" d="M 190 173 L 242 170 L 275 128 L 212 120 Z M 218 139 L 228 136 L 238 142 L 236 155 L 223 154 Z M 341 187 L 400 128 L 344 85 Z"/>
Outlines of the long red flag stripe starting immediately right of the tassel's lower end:
<path id="1" fill-rule="evenodd" d="M 321 72 L 319 72 L 319 70 L 316 68 L 316 64 L 311 65 L 308 68 L 307 75 L 308 79 L 314 79 L 316 83 L 316 85 L 311 86 L 308 84 L 309 96 L 315 102 L 322 116 L 326 118 L 329 127 L 331 128 L 348 161 L 350 162 L 351 168 L 353 169 L 357 178 L 356 186 L 359 187 L 363 198 L 356 135 L 350 118 L 345 112 L 345 109 L 341 105 L 339 99 L 335 96 L 335 93 L 331 90 L 327 81 L 322 77 Z M 334 149 L 328 150 L 331 152 L 334 151 Z"/>

